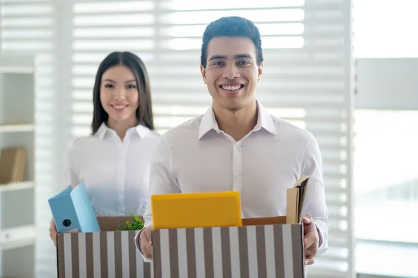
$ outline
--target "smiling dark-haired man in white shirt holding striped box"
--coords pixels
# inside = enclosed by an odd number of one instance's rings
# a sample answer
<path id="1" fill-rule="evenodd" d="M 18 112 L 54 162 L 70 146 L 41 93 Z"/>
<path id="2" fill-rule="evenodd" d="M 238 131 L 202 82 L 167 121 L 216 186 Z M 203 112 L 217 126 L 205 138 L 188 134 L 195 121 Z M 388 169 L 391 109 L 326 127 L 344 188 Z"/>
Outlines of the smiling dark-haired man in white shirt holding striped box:
<path id="1" fill-rule="evenodd" d="M 164 134 L 150 170 L 150 195 L 238 190 L 243 218 L 286 215 L 286 188 L 307 175 L 302 213 L 305 263 L 311 265 L 327 250 L 328 238 L 320 150 L 311 133 L 273 117 L 256 100 L 263 74 L 258 28 L 242 17 L 209 24 L 201 74 L 212 106 Z M 144 219 L 136 243 L 150 259 L 150 207 Z"/>

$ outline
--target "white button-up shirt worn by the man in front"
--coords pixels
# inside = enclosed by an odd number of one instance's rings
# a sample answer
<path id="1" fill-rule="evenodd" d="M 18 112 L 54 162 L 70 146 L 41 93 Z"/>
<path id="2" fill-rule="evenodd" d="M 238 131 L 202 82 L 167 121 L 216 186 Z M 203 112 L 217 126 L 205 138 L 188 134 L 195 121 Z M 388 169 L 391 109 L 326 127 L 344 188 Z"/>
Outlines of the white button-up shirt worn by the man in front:
<path id="1" fill-rule="evenodd" d="M 238 142 L 219 129 L 212 107 L 164 133 L 153 157 L 150 195 L 236 190 L 243 218 L 279 216 L 286 215 L 286 188 L 309 176 L 302 215 L 311 214 L 318 227 L 319 256 L 327 250 L 328 210 L 318 144 L 258 101 L 257 107 L 256 126 Z M 144 219 L 145 226 L 153 224 L 150 205 Z"/>

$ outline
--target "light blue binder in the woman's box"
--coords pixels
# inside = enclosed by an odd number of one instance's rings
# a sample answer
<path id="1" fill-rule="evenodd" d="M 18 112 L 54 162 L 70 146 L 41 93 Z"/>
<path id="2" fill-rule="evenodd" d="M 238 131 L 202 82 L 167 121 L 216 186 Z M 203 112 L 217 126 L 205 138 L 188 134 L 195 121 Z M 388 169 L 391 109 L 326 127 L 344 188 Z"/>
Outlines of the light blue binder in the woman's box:
<path id="1" fill-rule="evenodd" d="M 68 186 L 58 195 L 48 199 L 48 203 L 59 233 L 100 231 L 98 218 L 83 182 L 75 188 Z"/>

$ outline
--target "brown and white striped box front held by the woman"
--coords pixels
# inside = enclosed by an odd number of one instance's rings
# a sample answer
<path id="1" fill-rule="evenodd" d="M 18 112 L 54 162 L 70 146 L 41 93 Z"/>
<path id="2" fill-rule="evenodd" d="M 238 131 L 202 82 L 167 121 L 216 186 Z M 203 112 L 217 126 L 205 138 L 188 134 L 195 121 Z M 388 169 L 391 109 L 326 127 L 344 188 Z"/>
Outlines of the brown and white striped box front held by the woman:
<path id="1" fill-rule="evenodd" d="M 138 231 L 63 233 L 58 236 L 59 278 L 151 278 L 153 268 L 135 247 Z"/>

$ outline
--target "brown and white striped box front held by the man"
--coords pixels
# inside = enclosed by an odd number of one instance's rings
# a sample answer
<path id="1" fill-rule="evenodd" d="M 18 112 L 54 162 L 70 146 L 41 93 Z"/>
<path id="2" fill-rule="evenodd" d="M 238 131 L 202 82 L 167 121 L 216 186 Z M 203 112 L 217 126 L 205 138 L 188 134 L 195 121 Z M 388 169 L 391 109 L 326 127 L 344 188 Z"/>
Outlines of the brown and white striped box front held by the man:
<path id="1" fill-rule="evenodd" d="M 155 278 L 303 278 L 300 224 L 153 231 Z"/>

